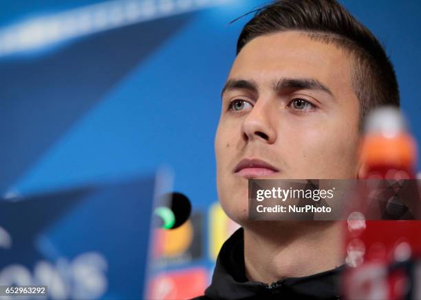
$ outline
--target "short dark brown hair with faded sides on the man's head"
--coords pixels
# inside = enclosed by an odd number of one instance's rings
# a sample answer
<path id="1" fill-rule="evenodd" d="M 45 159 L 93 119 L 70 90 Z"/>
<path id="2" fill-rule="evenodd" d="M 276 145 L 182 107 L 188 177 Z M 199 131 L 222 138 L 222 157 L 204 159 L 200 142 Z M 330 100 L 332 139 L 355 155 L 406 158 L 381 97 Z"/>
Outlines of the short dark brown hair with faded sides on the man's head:
<path id="1" fill-rule="evenodd" d="M 278 0 L 259 8 L 238 38 L 237 55 L 253 38 L 288 30 L 306 32 L 312 39 L 334 43 L 352 54 L 352 87 L 360 102 L 360 125 L 376 106 L 399 106 L 398 82 L 385 49 L 336 0 Z"/>

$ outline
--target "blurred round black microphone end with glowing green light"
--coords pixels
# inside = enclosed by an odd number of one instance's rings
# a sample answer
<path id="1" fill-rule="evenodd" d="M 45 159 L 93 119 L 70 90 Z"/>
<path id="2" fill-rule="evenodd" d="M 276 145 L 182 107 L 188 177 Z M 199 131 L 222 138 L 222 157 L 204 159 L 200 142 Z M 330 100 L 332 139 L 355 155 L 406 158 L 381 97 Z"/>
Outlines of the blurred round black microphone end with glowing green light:
<path id="1" fill-rule="evenodd" d="M 175 229 L 180 227 L 191 214 L 191 203 L 187 196 L 172 192 L 164 194 L 158 201 L 158 207 L 153 211 L 155 228 Z"/>

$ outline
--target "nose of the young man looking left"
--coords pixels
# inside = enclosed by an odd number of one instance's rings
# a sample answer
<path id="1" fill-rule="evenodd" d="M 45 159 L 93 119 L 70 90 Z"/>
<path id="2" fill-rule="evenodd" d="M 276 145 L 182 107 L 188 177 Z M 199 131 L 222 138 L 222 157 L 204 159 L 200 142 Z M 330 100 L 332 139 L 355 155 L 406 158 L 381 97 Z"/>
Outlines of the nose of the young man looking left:
<path id="1" fill-rule="evenodd" d="M 273 103 L 257 101 L 241 124 L 244 140 L 274 143 L 277 139 L 277 131 L 274 127 L 276 117 Z"/>

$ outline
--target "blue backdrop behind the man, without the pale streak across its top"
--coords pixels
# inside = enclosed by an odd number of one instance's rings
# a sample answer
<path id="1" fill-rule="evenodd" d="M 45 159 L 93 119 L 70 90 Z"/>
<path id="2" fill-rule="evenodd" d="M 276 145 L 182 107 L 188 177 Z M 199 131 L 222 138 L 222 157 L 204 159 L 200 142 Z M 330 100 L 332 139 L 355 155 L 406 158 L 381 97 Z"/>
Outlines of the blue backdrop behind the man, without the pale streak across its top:
<path id="1" fill-rule="evenodd" d="M 2 1 L 0 25 L 96 2 Z M 248 18 L 228 22 L 263 2 L 225 1 L 0 56 L 0 191 L 59 189 L 166 164 L 195 205 L 217 199 L 219 93 Z M 342 2 L 385 44 L 420 141 L 420 1 Z"/>

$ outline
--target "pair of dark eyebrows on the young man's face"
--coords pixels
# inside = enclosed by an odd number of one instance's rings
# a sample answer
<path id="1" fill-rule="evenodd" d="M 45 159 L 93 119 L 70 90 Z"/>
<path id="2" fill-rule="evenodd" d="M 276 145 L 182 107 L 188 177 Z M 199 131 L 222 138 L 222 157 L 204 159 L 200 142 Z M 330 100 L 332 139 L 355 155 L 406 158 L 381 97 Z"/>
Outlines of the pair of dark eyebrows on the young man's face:
<path id="1" fill-rule="evenodd" d="M 226 82 L 224 88 L 222 89 L 221 97 L 224 95 L 224 93 L 233 89 L 246 89 L 254 93 L 257 93 L 258 91 L 257 83 L 253 80 L 230 79 Z M 330 91 L 327 86 L 315 78 L 281 78 L 272 83 L 272 89 L 276 93 L 279 93 L 283 89 L 311 89 L 316 91 L 324 91 L 325 93 L 328 93 L 334 97 L 332 91 Z"/>

